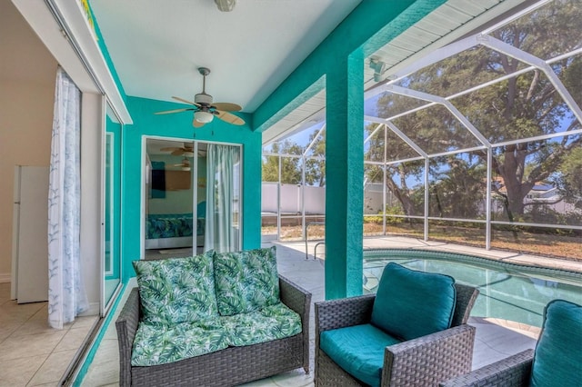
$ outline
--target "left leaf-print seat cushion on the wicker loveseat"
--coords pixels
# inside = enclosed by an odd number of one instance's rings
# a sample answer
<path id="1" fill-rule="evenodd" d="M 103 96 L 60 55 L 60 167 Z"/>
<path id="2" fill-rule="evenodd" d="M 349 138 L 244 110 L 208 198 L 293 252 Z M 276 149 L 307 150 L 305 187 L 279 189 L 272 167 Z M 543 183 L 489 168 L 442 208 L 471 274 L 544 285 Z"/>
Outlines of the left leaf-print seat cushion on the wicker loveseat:
<path id="1" fill-rule="evenodd" d="M 225 331 L 218 319 L 210 317 L 176 325 L 139 323 L 131 364 L 166 364 L 225 349 L 228 346 Z"/>

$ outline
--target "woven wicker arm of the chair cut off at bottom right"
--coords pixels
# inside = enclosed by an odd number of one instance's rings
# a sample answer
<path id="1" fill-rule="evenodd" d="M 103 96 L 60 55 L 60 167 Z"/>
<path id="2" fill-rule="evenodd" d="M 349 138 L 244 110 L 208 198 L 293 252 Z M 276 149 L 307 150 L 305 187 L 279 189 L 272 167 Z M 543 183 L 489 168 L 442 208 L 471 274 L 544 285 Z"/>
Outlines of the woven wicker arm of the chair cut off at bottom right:
<path id="1" fill-rule="evenodd" d="M 483 368 L 479 368 L 474 372 L 443 382 L 440 386 L 527 386 L 529 385 L 533 359 L 534 350 L 519 352 L 499 362 L 494 362 Z"/>

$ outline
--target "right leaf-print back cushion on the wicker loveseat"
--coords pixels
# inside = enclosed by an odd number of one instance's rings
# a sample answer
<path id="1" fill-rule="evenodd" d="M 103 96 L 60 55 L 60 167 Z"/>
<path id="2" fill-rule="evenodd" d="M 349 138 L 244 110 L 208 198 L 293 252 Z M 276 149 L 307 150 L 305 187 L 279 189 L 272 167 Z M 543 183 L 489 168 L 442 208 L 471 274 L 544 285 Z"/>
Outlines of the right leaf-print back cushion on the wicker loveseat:
<path id="1" fill-rule="evenodd" d="M 218 313 L 249 313 L 279 303 L 275 246 L 237 253 L 216 253 Z"/>

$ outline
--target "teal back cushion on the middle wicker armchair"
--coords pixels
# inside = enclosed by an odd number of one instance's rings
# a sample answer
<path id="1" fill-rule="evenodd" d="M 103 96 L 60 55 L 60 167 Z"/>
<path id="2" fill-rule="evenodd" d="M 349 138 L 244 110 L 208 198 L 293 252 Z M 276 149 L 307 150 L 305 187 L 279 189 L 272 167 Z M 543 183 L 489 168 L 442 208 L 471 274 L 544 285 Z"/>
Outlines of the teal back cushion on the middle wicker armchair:
<path id="1" fill-rule="evenodd" d="M 371 323 L 397 338 L 416 339 L 449 328 L 456 303 L 453 277 L 388 263 L 378 284 Z"/>

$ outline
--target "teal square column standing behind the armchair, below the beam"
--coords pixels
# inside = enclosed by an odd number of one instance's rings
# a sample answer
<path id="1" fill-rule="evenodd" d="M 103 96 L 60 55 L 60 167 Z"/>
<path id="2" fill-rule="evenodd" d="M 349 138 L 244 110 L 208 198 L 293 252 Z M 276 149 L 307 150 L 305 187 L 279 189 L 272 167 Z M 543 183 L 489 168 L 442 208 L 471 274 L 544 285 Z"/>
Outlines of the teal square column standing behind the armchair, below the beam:
<path id="1" fill-rule="evenodd" d="M 364 67 L 350 55 L 327 74 L 326 298 L 362 293 Z M 332 81 L 333 80 L 333 81 Z"/>

